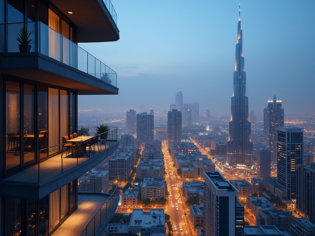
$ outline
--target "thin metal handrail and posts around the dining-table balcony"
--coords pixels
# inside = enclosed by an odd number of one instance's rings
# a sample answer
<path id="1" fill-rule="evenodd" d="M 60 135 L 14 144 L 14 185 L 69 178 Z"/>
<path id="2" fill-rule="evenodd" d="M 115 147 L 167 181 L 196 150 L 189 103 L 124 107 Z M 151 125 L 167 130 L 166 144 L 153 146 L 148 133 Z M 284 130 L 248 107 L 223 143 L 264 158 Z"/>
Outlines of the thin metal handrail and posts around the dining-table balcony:
<path id="1" fill-rule="evenodd" d="M 97 135 L 94 135 L 94 136 L 92 136 L 92 138 L 95 138 L 95 137 L 100 137 L 102 134 L 105 134 L 105 133 L 112 133 L 112 136 L 113 136 L 113 131 L 116 131 L 115 132 L 115 139 L 110 139 L 111 141 L 116 141 L 116 143 L 117 143 L 117 127 L 111 127 L 111 128 L 114 128 L 114 129 L 111 129 L 111 130 L 109 130 L 109 131 L 107 131 L 107 132 L 104 132 L 104 133 L 101 133 L 101 134 L 97 134 Z M 108 139 L 107 139 L 108 140 Z M 89 141 L 89 140 L 87 140 L 87 141 Z M 48 150 L 48 149 L 50 149 L 50 148 L 54 148 L 54 147 L 60 147 L 61 146 L 61 150 L 60 150 L 60 148 L 58 149 L 58 151 L 56 152 L 57 154 L 56 155 L 59 155 L 60 154 L 60 152 L 61 152 L 61 172 L 60 173 L 63 173 L 63 147 L 64 147 L 64 145 L 65 144 L 67 144 L 67 143 L 61 143 L 61 144 L 57 144 L 57 145 L 54 145 L 54 146 L 51 146 L 51 147 L 47 147 L 47 148 L 43 148 L 43 149 L 38 149 L 37 150 L 37 153 L 38 153 L 38 183 L 40 183 L 41 181 L 40 181 L 40 162 L 41 162 L 41 160 L 40 160 L 40 153 L 41 153 L 41 151 L 44 151 L 44 150 Z M 112 145 L 114 145 L 113 143 L 112 143 Z M 108 148 L 110 148 L 111 146 L 111 143 L 109 144 L 109 147 Z M 106 150 L 106 140 L 105 140 L 105 149 L 104 150 Z M 95 151 L 96 151 L 96 149 L 95 149 Z M 99 150 L 99 153 L 101 153 L 102 152 L 102 146 L 100 145 L 100 150 Z M 92 158 L 94 157 L 96 155 L 96 152 L 95 152 L 95 154 L 93 155 L 93 152 L 92 152 Z M 46 156 L 47 157 L 47 156 Z M 46 158 L 45 158 L 46 159 Z M 89 157 L 89 159 L 90 159 L 90 157 Z M 78 163 L 78 160 L 79 160 L 79 157 L 78 157 L 78 155 L 77 155 L 77 166 L 79 165 L 79 163 Z M 60 173 L 58 173 L 58 174 L 60 174 Z M 58 175 L 58 174 L 55 174 L 55 175 Z M 53 175 L 53 176 L 51 176 L 51 177 L 54 177 L 55 175 Z M 49 178 L 51 178 L 51 177 L 49 177 Z M 44 180 L 43 180 L 44 181 Z"/>

